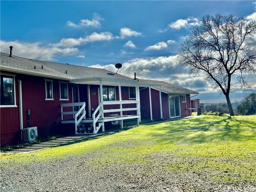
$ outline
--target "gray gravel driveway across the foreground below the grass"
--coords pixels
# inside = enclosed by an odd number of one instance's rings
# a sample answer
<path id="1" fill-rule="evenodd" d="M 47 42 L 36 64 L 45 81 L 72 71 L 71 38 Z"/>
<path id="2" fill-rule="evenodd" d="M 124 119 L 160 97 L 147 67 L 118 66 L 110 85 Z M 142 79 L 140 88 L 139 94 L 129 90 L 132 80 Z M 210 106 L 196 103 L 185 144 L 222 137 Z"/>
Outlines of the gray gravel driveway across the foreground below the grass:
<path id="1" fill-rule="evenodd" d="M 103 150 L 52 161 L 2 163 L 0 190 L 256 191 L 256 182 L 228 184 L 213 180 L 207 171 L 188 173 L 165 169 L 168 163 L 181 161 L 172 154 L 152 153 L 141 157 L 147 159 L 144 163 L 122 163 L 99 160 Z"/>

